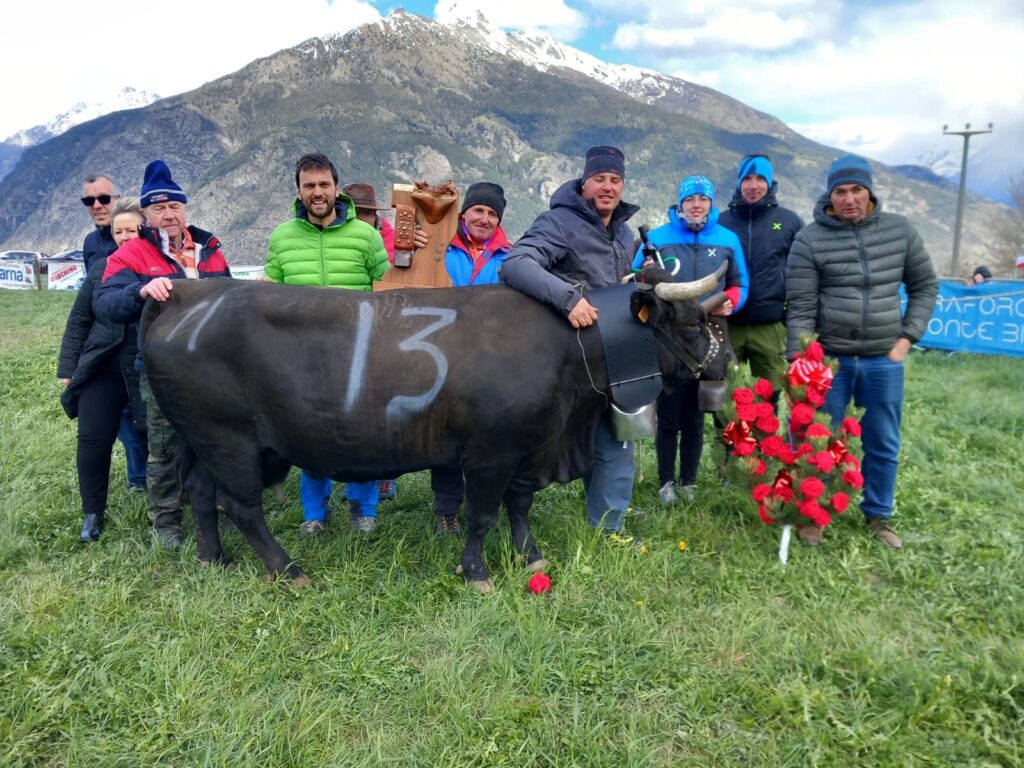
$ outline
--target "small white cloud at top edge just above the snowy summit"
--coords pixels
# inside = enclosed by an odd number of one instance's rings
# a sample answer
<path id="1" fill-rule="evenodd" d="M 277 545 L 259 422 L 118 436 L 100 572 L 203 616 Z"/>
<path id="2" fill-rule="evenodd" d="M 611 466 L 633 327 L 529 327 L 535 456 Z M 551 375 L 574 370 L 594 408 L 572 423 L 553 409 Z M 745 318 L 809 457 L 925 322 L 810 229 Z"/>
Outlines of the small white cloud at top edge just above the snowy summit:
<path id="1" fill-rule="evenodd" d="M 542 30 L 557 40 L 575 40 L 587 28 L 587 16 L 570 8 L 564 0 L 442 0 L 434 8 L 434 18 L 442 24 L 476 22 L 482 14 L 501 29 Z"/>

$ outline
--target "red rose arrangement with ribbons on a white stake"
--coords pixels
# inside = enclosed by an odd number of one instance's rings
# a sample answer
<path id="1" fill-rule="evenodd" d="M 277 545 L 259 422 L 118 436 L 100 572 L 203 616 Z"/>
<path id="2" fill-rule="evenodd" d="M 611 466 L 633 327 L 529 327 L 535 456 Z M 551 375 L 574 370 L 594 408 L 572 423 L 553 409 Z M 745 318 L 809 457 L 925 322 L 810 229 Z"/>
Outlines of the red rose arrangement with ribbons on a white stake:
<path id="1" fill-rule="evenodd" d="M 816 341 L 797 354 L 786 372 L 784 403 L 779 403 L 787 419 L 775 414 L 766 379 L 750 385 L 745 367 L 729 374 L 732 396 L 721 415 L 727 422 L 723 434 L 733 459 L 732 474 L 750 485 L 765 523 L 783 524 L 783 563 L 792 526 L 827 525 L 834 514 L 849 508 L 864 482 L 858 458 L 860 422 L 850 416 L 833 430 L 828 416 L 819 412 L 835 365 L 825 361 Z"/>

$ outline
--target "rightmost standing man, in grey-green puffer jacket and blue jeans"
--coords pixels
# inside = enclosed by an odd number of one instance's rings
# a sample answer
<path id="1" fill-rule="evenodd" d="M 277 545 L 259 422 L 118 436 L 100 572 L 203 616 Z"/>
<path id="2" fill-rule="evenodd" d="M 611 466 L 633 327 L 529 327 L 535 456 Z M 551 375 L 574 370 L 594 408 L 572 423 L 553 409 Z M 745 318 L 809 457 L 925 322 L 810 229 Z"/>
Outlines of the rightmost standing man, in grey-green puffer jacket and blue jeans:
<path id="1" fill-rule="evenodd" d="M 928 327 L 938 280 L 918 231 L 903 216 L 883 213 L 872 186 L 862 158 L 846 156 L 828 169 L 828 191 L 790 251 L 787 347 L 792 356 L 802 336 L 817 332 L 825 353 L 839 360 L 824 410 L 838 425 L 851 398 L 864 409 L 861 511 L 871 534 L 899 549 L 903 544 L 889 521 L 899 465 L 903 358 Z M 807 525 L 800 539 L 816 546 L 822 532 Z"/>

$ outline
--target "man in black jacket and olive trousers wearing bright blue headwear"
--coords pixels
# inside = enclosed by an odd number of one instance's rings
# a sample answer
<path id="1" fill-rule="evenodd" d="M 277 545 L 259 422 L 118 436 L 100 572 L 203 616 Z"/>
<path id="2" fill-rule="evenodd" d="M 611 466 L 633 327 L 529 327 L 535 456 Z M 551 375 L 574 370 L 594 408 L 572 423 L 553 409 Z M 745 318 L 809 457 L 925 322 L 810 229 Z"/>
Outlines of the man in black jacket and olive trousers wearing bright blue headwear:
<path id="1" fill-rule="evenodd" d="M 736 171 L 736 191 L 718 223 L 739 238 L 751 288 L 743 308 L 729 316 L 729 340 L 751 373 L 771 382 L 775 397 L 785 376 L 785 260 L 804 227 L 775 200 L 778 182 L 765 155 L 748 155 Z"/>

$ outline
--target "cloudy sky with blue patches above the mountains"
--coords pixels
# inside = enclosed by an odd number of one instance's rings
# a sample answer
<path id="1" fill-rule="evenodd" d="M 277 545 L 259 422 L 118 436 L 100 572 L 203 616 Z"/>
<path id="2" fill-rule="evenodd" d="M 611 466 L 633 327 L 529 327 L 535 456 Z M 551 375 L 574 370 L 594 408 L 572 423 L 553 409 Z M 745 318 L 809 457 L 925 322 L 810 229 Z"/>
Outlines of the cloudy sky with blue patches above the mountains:
<path id="1" fill-rule="evenodd" d="M 945 152 L 958 164 L 961 140 L 942 136 L 942 125 L 992 121 L 995 132 L 972 142 L 972 180 L 1024 170 L 1019 0 L 7 3 L 0 137 L 125 86 L 164 96 L 195 88 L 399 5 L 441 22 L 482 11 L 497 27 L 539 29 L 606 61 L 716 88 L 811 138 L 888 163 Z M 209 42 L 155 46 L 166 29 L 182 41 L 202 31 Z"/>

